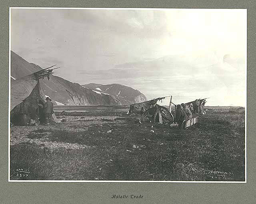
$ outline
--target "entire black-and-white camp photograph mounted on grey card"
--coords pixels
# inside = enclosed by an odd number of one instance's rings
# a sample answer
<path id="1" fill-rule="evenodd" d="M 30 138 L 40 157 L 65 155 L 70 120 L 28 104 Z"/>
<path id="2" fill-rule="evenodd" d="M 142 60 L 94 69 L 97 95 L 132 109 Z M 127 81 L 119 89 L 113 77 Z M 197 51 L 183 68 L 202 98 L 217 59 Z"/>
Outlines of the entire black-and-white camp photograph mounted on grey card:
<path id="1" fill-rule="evenodd" d="M 246 9 L 9 11 L 9 182 L 246 183 Z"/>

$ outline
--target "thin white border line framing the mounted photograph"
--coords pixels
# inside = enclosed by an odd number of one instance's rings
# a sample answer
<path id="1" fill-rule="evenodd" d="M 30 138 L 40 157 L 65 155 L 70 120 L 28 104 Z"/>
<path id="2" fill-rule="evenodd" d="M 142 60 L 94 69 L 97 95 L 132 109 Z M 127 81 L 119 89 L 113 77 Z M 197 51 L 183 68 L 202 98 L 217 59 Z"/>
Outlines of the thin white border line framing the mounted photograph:
<path id="1" fill-rule="evenodd" d="M 113 182 L 113 183 L 246 183 L 247 182 L 247 146 L 246 146 L 246 114 L 247 114 L 247 94 L 245 95 L 245 180 L 244 181 L 150 181 L 150 180 L 10 180 L 10 107 L 11 107 L 11 10 L 12 9 L 51 9 L 51 10 L 181 10 L 184 8 L 76 8 L 76 7 L 10 7 L 9 8 L 9 103 L 8 103 L 8 182 L 92 182 L 92 183 L 104 183 L 104 182 Z M 188 10 L 212 10 L 213 8 L 186 8 Z M 226 8 L 218 8 L 218 10 L 227 10 Z M 247 9 L 246 8 L 237 8 L 233 10 L 246 10 L 246 28 L 247 28 Z M 245 63 L 244 63 L 244 72 L 245 72 L 245 89 L 247 90 L 247 30 L 246 30 L 246 50 L 245 50 Z"/>

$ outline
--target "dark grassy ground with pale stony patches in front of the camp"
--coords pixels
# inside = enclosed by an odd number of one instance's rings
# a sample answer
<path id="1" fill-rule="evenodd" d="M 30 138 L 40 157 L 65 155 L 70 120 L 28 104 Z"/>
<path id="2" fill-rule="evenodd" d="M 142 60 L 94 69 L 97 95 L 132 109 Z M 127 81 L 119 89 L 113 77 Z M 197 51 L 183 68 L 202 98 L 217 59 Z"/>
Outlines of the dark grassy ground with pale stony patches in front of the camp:
<path id="1" fill-rule="evenodd" d="M 182 132 L 139 124 L 127 108 L 75 108 L 88 112 L 51 126 L 12 126 L 10 179 L 244 181 L 244 108 L 211 107 Z"/>

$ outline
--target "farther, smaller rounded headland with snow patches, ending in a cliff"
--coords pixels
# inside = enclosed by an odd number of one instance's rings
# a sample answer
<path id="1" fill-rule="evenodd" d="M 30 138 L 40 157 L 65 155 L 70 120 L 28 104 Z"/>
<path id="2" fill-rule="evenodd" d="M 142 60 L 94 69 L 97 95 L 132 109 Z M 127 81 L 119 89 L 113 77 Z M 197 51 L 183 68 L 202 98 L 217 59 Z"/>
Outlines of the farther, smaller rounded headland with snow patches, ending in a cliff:
<path id="1" fill-rule="evenodd" d="M 90 88 L 94 91 L 105 93 L 105 94 L 111 94 L 113 96 L 116 96 L 122 100 L 125 104 L 132 104 L 132 103 L 139 103 L 146 101 L 147 98 L 144 94 L 142 94 L 140 91 L 135 90 L 129 86 L 124 86 L 122 84 L 84 84 L 82 85 L 86 88 Z"/>

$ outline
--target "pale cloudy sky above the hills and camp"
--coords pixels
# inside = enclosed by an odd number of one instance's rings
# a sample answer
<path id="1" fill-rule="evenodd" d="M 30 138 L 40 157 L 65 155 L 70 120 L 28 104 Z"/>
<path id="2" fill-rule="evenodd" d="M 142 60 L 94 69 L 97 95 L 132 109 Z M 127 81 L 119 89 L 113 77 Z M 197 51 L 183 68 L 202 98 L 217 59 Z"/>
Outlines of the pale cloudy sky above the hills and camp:
<path id="1" fill-rule="evenodd" d="M 11 50 L 79 84 L 246 104 L 244 9 L 12 9 Z"/>

